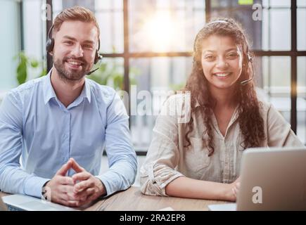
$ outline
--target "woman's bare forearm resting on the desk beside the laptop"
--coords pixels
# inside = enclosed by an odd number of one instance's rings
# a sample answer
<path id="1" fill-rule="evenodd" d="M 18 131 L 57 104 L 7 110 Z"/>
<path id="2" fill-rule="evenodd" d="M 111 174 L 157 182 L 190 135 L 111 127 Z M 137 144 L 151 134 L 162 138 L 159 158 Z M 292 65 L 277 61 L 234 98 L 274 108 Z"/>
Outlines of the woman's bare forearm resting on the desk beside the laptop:
<path id="1" fill-rule="evenodd" d="M 181 198 L 200 198 L 210 200 L 235 201 L 231 184 L 200 181 L 186 176 L 174 179 L 166 186 L 167 195 Z"/>

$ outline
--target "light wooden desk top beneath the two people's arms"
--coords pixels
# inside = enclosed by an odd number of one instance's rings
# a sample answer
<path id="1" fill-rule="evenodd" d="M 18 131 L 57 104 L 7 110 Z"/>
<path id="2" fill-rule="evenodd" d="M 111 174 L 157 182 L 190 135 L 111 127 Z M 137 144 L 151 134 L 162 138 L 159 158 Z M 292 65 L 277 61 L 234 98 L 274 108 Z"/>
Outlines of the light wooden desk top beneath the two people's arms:
<path id="1" fill-rule="evenodd" d="M 0 195 L 7 195 L 0 193 Z M 198 200 L 189 198 L 174 198 L 143 195 L 139 187 L 132 186 L 126 191 L 121 191 L 109 198 L 98 200 L 90 207 L 82 207 L 85 211 L 153 211 L 172 207 L 175 211 L 206 211 L 208 205 L 229 203 L 217 200 Z"/>

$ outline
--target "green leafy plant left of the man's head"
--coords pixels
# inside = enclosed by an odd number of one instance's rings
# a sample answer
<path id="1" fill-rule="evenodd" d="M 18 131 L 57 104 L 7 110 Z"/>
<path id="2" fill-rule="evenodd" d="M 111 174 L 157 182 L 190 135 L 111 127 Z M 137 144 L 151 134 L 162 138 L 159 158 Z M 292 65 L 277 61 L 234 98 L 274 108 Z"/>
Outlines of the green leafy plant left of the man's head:
<path id="1" fill-rule="evenodd" d="M 33 68 L 34 72 L 37 72 L 37 76 L 35 77 L 42 77 L 46 75 L 46 68 L 44 66 L 43 61 L 30 58 L 29 56 L 26 56 L 25 52 L 23 51 L 20 51 L 20 53 L 18 53 L 18 55 L 15 56 L 14 59 L 18 60 L 19 62 L 16 69 L 16 79 L 18 81 L 18 84 L 23 84 L 27 81 L 28 68 Z"/>

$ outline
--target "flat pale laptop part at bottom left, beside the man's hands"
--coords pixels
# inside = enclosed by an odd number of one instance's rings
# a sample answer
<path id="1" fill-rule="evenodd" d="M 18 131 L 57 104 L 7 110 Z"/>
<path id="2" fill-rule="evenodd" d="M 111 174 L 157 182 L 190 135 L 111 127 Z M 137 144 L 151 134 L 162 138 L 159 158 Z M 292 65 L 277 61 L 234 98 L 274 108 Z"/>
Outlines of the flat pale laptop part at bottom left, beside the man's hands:
<path id="1" fill-rule="evenodd" d="M 4 204 L 5 203 L 5 204 Z M 6 195 L 0 197 L 0 210 L 10 211 L 79 211 L 28 195 Z"/>

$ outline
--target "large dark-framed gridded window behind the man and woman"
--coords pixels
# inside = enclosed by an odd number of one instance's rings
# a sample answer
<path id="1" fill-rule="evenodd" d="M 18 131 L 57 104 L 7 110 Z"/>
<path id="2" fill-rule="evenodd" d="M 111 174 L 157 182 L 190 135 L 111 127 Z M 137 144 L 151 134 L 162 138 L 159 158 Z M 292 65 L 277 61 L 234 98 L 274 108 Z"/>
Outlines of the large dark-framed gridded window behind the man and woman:
<path id="1" fill-rule="evenodd" d="M 63 8 L 75 4 L 95 12 L 101 27 L 100 51 L 104 60 L 114 58 L 110 61 L 120 62 L 115 65 L 119 65 L 116 70 L 122 73 L 121 86 L 129 92 L 129 113 L 135 110 L 135 102 L 144 101 L 146 94 L 153 95 L 156 90 L 179 89 L 184 85 L 191 72 L 193 40 L 205 20 L 216 16 L 236 18 L 252 40 L 252 49 L 257 56 L 258 88 L 291 122 L 300 139 L 306 142 L 305 1 L 296 1 L 296 10 L 290 0 L 246 2 L 53 0 L 53 18 Z M 252 19 L 252 4 L 262 6 L 262 20 Z M 133 100 L 134 93 L 136 99 Z M 143 110 L 146 111 L 146 108 Z M 134 146 L 139 154 L 145 154 L 151 141 L 155 116 L 131 115 L 130 122 Z"/>

